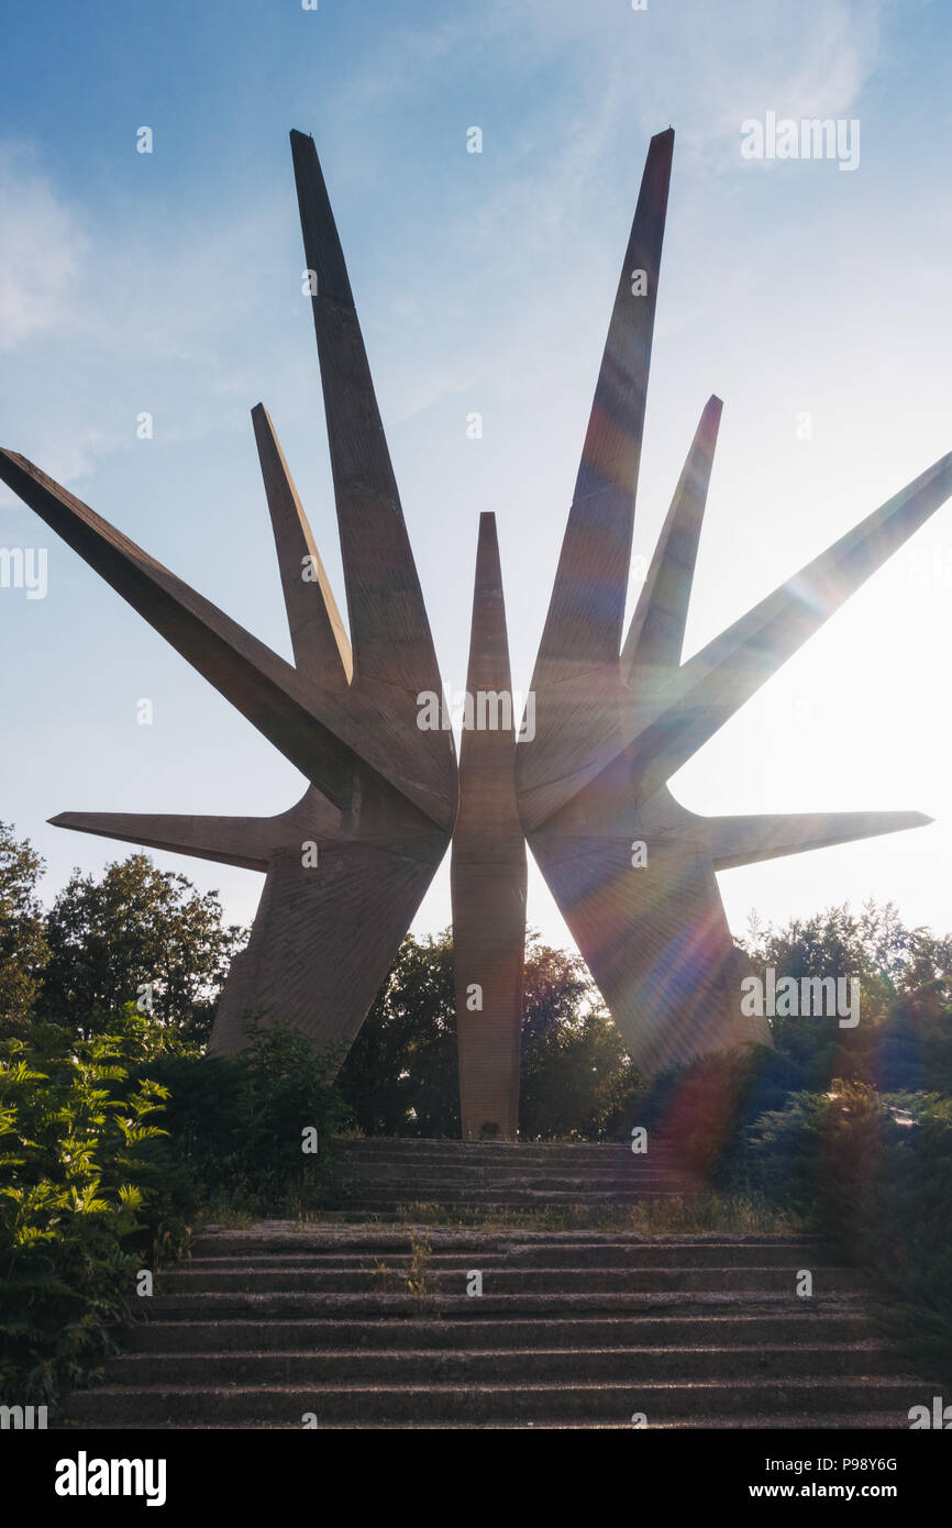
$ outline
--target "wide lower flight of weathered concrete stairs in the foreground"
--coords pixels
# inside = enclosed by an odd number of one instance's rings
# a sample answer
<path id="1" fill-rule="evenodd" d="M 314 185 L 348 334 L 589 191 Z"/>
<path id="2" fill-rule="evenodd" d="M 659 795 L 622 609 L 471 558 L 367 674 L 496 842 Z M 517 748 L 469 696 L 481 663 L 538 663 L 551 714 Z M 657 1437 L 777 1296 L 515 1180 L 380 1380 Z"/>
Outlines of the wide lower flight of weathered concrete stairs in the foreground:
<path id="1" fill-rule="evenodd" d="M 67 1426 L 908 1427 L 932 1394 L 804 1238 L 263 1222 L 157 1284 Z"/>

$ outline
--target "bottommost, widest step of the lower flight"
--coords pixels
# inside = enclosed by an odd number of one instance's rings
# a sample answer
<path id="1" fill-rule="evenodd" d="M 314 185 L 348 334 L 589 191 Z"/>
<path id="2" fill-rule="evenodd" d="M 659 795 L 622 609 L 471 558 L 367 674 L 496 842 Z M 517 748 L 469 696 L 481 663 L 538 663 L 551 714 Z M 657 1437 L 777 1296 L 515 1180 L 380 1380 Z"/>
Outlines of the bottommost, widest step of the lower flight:
<path id="1" fill-rule="evenodd" d="M 575 1383 L 538 1384 L 402 1384 L 367 1386 L 162 1386 L 125 1387 L 104 1384 L 72 1397 L 69 1418 L 113 1427 L 133 1423 L 153 1427 L 232 1426 L 235 1423 L 284 1423 L 301 1426 L 306 1413 L 318 1423 L 481 1423 L 567 1420 L 587 1424 L 631 1423 L 643 1413 L 649 1424 L 682 1423 L 708 1416 L 758 1418 L 775 1426 L 784 1413 L 801 1418 L 821 1415 L 851 1418 L 869 1412 L 892 1415 L 908 1427 L 909 1407 L 921 1404 L 928 1386 L 902 1375 L 862 1378 L 741 1378 L 698 1381 L 640 1381 L 637 1384 Z M 931 1400 L 931 1392 L 929 1397 Z M 807 1423 L 810 1426 L 810 1423 Z"/>

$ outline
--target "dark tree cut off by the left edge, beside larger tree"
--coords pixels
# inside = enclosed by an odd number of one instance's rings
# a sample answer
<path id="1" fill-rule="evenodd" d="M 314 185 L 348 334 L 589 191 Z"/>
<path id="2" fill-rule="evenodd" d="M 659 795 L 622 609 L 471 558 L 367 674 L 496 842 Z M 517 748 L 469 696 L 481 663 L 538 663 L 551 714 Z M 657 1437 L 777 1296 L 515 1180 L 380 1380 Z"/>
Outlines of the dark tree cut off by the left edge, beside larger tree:
<path id="1" fill-rule="evenodd" d="M 0 822 L 0 1034 L 23 1038 L 49 960 L 37 880 L 44 863 L 29 839 Z"/>

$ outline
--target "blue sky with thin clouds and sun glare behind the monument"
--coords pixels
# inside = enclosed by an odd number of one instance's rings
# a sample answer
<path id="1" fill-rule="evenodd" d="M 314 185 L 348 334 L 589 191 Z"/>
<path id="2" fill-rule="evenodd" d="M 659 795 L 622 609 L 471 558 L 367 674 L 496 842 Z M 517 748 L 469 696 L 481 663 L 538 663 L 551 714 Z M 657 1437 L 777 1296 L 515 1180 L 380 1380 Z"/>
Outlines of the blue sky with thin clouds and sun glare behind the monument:
<path id="1" fill-rule="evenodd" d="M 630 601 L 717 393 L 689 656 L 952 449 L 950 43 L 943 0 L 17 8 L 0 443 L 290 659 L 263 400 L 344 607 L 287 144 L 313 133 L 443 678 L 465 685 L 489 509 L 524 691 L 648 139 L 672 125 Z M 859 124 L 859 163 L 746 157 L 743 124 L 767 113 Z M 43 599 L 0 588 L 0 821 L 43 854 L 47 900 L 128 853 L 49 827 L 60 811 L 300 798 L 298 772 L 2 486 L 0 547 L 47 549 Z M 782 923 L 869 897 L 952 927 L 950 594 L 952 503 L 672 778 L 703 813 L 935 819 L 721 874 L 735 934 L 753 908 Z M 153 857 L 254 917 L 260 876 Z M 535 866 L 529 921 L 572 944 Z M 446 860 L 414 929 L 448 923 Z"/>

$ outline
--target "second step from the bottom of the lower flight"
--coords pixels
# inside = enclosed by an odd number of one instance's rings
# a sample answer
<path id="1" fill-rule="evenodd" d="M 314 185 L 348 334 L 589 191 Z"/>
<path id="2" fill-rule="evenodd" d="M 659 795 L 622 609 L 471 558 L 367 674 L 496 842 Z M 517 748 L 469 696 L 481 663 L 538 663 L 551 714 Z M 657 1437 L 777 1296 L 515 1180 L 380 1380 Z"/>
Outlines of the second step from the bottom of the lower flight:
<path id="1" fill-rule="evenodd" d="M 324 1339 L 325 1340 L 325 1339 Z M 874 1342 L 824 1346 L 704 1348 L 481 1348 L 321 1349 L 303 1352 L 219 1351 L 124 1354 L 110 1368 L 118 1386 L 335 1386 L 520 1384 L 579 1375 L 607 1384 L 656 1380 L 737 1380 L 773 1375 L 856 1378 L 894 1375 L 902 1363 Z"/>

